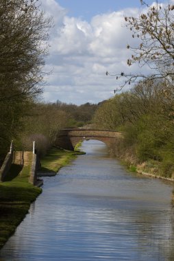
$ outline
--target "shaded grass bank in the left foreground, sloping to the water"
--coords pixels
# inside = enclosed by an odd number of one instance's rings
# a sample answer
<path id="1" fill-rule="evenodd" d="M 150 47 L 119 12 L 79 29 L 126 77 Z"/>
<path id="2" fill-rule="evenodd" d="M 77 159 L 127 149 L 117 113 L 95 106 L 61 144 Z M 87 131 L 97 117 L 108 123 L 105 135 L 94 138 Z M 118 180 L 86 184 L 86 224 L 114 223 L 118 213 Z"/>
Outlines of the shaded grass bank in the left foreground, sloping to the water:
<path id="1" fill-rule="evenodd" d="M 29 210 L 30 204 L 42 192 L 28 182 L 29 166 L 12 164 L 8 178 L 0 183 L 0 248 L 14 233 Z"/>

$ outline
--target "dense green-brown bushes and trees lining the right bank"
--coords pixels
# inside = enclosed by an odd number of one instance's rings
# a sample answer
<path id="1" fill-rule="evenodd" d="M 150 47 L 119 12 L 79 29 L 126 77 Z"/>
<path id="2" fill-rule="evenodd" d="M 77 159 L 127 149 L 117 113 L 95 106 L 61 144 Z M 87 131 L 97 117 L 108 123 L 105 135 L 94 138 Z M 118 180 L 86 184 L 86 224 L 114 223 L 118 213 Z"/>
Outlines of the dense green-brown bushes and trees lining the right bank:
<path id="1" fill-rule="evenodd" d="M 123 131 L 117 157 L 130 165 L 158 161 L 159 173 L 174 173 L 174 89 L 165 82 L 139 82 L 130 91 L 101 104 L 93 120 L 103 129 Z M 112 119 L 114 118 L 114 120 Z"/>

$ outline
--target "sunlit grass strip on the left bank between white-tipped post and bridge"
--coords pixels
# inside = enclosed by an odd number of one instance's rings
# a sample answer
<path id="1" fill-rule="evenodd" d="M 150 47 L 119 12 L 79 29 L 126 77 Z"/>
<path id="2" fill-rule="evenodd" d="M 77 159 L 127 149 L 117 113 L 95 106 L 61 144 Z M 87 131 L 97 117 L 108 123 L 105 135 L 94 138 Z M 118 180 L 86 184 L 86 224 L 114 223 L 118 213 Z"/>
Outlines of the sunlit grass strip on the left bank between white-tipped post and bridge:
<path id="1" fill-rule="evenodd" d="M 51 148 L 48 154 L 41 159 L 40 172 L 58 172 L 60 168 L 66 166 L 75 159 L 76 155 L 84 154 L 80 151 L 62 150 L 60 148 Z"/>

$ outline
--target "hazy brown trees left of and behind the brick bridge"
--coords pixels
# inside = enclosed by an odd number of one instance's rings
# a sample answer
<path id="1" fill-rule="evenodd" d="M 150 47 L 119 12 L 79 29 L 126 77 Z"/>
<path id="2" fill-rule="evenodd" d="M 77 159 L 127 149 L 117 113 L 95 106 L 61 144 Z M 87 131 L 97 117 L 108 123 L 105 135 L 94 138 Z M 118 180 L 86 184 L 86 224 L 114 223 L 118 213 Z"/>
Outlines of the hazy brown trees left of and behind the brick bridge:
<path id="1" fill-rule="evenodd" d="M 40 156 L 54 145 L 59 131 L 63 128 L 78 128 L 90 124 L 97 104 L 66 104 L 37 102 L 32 105 L 30 115 L 23 117 L 23 130 L 18 133 L 15 144 L 21 150 L 32 150 L 32 141 Z"/>

